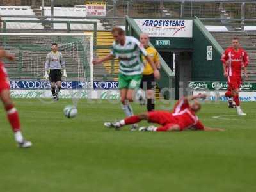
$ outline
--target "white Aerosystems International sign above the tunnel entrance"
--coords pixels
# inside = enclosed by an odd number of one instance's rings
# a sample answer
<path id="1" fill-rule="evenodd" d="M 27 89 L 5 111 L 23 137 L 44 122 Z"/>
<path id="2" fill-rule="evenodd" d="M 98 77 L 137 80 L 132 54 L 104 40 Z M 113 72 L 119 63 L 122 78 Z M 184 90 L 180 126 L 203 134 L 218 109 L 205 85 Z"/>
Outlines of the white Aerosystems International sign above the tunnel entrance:
<path id="1" fill-rule="evenodd" d="M 134 19 L 141 31 L 151 37 L 192 38 L 193 20 Z"/>

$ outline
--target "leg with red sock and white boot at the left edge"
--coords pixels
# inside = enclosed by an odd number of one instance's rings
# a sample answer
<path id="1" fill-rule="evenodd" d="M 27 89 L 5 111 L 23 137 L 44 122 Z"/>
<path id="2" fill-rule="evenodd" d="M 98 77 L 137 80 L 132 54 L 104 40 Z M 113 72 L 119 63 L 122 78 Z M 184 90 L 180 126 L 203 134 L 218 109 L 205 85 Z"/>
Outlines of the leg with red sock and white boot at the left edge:
<path id="1" fill-rule="evenodd" d="M 14 132 L 14 138 L 19 147 L 28 148 L 32 146 L 30 141 L 26 141 L 22 133 L 20 131 L 20 120 L 17 109 L 15 108 L 12 99 L 10 98 L 10 90 L 2 90 L 0 93 L 0 98 L 4 104 L 4 108 L 6 110 L 6 114 L 10 125 L 12 126 L 12 130 Z"/>

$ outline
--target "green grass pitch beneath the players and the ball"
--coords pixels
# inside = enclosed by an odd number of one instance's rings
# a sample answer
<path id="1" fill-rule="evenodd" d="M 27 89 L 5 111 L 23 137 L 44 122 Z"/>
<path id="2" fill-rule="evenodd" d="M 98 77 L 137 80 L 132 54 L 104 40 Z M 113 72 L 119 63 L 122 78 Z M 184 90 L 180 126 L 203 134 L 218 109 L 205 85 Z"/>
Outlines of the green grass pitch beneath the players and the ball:
<path id="1" fill-rule="evenodd" d="M 254 102 L 242 104 L 245 117 L 226 103 L 204 104 L 202 122 L 225 132 L 114 131 L 102 123 L 123 118 L 120 104 L 80 100 L 70 120 L 62 113 L 70 100 L 15 103 L 33 148 L 15 146 L 0 109 L 0 191 L 256 191 Z"/>

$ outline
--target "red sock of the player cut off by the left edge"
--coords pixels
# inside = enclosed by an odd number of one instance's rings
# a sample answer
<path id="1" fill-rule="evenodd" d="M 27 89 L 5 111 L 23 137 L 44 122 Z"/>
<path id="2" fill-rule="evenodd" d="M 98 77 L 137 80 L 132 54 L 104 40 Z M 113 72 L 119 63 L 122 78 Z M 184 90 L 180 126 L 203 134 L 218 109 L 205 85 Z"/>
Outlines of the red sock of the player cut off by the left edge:
<path id="1" fill-rule="evenodd" d="M 5 110 L 13 132 L 20 131 L 20 119 L 16 108 L 13 105 L 9 105 L 5 107 Z"/>

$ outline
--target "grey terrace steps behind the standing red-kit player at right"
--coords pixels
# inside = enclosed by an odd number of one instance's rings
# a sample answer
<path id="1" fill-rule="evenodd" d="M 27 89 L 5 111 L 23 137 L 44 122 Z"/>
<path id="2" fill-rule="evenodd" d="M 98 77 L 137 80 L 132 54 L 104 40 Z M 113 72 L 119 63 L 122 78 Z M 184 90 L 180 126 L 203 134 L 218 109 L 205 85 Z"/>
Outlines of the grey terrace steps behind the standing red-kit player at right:
<path id="1" fill-rule="evenodd" d="M 218 43 L 226 49 L 230 46 L 231 40 L 234 36 L 239 38 L 241 47 L 243 47 L 250 57 L 250 63 L 248 65 L 248 81 L 256 82 L 256 32 L 230 32 L 230 31 L 218 31 L 211 32 Z"/>

